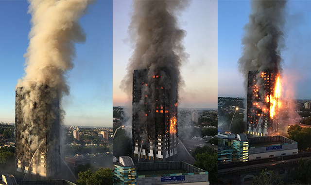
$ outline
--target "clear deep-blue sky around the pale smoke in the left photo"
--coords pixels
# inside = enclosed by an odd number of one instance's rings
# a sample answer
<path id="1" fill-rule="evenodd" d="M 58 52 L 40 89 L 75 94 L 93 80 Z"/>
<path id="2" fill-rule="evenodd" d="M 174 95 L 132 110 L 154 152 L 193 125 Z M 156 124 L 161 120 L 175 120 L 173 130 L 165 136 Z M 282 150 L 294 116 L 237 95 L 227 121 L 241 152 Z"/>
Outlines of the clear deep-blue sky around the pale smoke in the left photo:
<path id="1" fill-rule="evenodd" d="M 15 122 L 15 85 L 24 74 L 31 15 L 24 0 L 0 1 L 0 122 Z M 112 126 L 112 0 L 98 0 L 80 19 L 86 42 L 76 44 L 62 104 L 65 125 Z"/>

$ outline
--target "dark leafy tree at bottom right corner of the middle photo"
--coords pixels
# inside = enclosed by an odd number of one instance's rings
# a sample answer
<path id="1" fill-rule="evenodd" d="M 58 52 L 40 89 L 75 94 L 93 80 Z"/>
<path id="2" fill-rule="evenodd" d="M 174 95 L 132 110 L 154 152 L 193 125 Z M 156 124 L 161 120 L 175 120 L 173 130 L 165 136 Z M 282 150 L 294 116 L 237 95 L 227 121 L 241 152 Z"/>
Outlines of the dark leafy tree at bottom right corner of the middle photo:
<path id="1" fill-rule="evenodd" d="M 196 160 L 193 166 L 206 170 L 210 184 L 217 185 L 217 152 L 213 148 L 204 146 L 197 147 L 193 153 Z"/>

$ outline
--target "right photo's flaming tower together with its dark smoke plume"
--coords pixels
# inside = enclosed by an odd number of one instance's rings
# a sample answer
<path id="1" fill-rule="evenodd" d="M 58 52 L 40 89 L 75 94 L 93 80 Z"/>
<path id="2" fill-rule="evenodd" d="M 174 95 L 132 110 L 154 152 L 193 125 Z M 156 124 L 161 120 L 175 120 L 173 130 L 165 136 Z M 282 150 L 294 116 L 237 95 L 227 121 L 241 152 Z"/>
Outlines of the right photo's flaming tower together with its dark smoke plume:
<path id="1" fill-rule="evenodd" d="M 247 92 L 247 133 L 254 136 L 278 130 L 285 5 L 286 0 L 253 0 L 244 26 L 239 69 Z"/>

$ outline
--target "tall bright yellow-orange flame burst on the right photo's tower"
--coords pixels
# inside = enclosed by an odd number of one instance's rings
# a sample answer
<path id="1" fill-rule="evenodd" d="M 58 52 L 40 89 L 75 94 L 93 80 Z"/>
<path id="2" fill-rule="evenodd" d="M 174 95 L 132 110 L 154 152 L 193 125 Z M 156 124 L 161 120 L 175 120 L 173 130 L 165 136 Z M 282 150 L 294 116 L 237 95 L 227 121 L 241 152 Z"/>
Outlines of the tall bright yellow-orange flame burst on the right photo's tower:
<path id="1" fill-rule="evenodd" d="M 279 108 L 279 97 L 281 93 L 281 83 L 279 75 L 276 77 L 276 86 L 274 88 L 274 94 L 270 94 L 270 98 L 267 95 L 266 101 L 270 101 L 270 118 L 273 119 L 273 116 L 276 114 L 276 108 Z"/>

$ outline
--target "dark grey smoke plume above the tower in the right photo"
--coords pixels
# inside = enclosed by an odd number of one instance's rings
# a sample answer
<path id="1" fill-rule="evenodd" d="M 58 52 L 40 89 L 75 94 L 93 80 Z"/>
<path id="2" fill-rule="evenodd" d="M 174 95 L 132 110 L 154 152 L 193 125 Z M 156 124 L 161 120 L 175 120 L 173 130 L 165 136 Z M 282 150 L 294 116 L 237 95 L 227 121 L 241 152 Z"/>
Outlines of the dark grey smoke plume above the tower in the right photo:
<path id="1" fill-rule="evenodd" d="M 249 22 L 244 26 L 240 72 L 247 79 L 249 71 L 281 72 L 286 0 L 253 0 Z"/>

